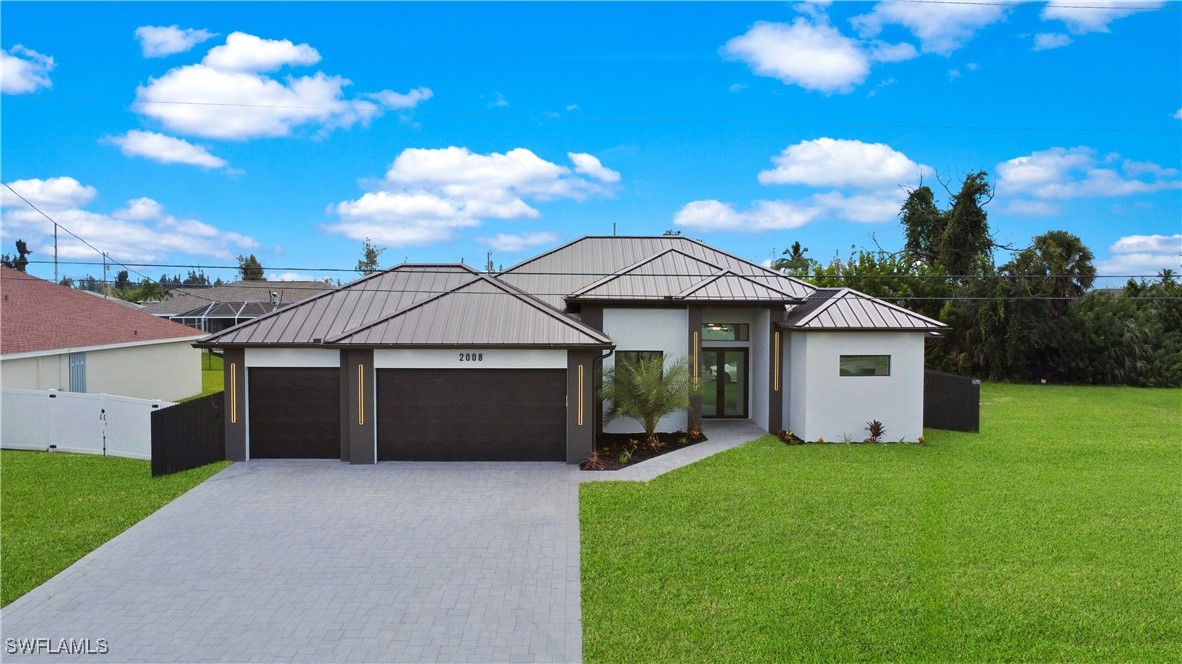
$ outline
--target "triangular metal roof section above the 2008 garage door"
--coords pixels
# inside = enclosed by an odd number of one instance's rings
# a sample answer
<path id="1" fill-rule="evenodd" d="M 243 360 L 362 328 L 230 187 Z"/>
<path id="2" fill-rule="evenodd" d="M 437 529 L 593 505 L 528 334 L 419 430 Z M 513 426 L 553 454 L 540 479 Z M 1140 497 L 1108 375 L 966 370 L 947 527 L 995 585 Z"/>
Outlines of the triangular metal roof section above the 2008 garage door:
<path id="1" fill-rule="evenodd" d="M 611 339 L 550 305 L 479 275 L 383 320 L 326 339 L 362 346 L 595 346 Z"/>

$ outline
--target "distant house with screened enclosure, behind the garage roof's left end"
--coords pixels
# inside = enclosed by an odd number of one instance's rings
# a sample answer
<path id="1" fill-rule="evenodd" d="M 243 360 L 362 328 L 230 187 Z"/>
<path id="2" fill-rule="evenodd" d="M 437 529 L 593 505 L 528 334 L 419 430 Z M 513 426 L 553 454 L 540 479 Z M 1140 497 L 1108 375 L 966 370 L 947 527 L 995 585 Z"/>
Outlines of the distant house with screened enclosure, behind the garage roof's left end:
<path id="1" fill-rule="evenodd" d="M 234 281 L 222 286 L 174 286 L 144 311 L 202 332 L 221 332 L 277 308 L 332 291 L 325 281 Z"/>

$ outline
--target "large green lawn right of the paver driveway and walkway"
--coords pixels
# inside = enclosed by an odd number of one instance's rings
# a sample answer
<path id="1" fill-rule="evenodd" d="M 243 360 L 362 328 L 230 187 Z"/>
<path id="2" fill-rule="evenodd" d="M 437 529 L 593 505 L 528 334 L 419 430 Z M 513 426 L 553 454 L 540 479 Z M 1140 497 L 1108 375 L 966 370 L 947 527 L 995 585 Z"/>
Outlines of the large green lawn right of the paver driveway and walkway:
<path id="1" fill-rule="evenodd" d="M 583 484 L 586 659 L 1182 660 L 1182 390 L 981 401 L 979 435 Z"/>

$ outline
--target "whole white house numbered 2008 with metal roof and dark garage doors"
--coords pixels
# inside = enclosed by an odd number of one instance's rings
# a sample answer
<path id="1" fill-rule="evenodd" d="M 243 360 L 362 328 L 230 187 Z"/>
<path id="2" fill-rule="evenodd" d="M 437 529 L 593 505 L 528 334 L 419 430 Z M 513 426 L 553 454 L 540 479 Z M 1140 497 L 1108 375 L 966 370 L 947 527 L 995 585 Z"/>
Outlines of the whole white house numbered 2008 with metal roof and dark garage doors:
<path id="1" fill-rule="evenodd" d="M 197 345 L 226 358 L 228 458 L 576 463 L 602 371 L 652 353 L 690 358 L 703 388 L 663 430 L 862 440 L 879 419 L 914 441 L 923 339 L 944 327 L 687 237 L 583 237 L 496 275 L 400 265 Z"/>

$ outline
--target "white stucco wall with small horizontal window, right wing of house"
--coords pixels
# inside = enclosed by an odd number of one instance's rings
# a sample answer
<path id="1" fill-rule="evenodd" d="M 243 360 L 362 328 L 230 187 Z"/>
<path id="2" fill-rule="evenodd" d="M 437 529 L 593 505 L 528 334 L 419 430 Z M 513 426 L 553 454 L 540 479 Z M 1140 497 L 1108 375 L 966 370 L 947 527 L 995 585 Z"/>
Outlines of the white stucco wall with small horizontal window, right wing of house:
<path id="1" fill-rule="evenodd" d="M 786 428 L 806 441 L 860 441 L 878 419 L 889 441 L 923 435 L 922 332 L 793 332 Z M 890 356 L 890 376 L 840 376 L 843 354 Z"/>

